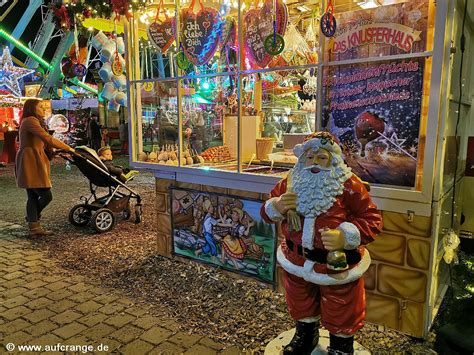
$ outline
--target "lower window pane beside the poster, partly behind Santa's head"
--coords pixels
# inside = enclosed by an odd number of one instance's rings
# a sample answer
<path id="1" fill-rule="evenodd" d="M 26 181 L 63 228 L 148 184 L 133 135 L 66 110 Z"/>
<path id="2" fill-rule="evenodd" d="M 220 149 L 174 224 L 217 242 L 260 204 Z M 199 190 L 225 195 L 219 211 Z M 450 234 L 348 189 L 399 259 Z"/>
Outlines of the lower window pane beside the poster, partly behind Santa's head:
<path id="1" fill-rule="evenodd" d="M 315 129 L 317 68 L 242 76 L 241 171 L 284 175 L 293 147 Z"/>

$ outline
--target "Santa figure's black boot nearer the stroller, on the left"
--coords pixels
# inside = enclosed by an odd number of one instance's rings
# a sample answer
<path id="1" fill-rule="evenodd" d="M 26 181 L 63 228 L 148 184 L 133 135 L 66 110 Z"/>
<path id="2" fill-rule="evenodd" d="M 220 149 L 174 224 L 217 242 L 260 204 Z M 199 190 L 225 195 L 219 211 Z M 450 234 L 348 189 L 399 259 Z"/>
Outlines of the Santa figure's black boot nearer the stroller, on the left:
<path id="1" fill-rule="evenodd" d="M 309 355 L 318 345 L 319 322 L 296 322 L 296 333 L 290 343 L 283 348 L 283 355 Z"/>

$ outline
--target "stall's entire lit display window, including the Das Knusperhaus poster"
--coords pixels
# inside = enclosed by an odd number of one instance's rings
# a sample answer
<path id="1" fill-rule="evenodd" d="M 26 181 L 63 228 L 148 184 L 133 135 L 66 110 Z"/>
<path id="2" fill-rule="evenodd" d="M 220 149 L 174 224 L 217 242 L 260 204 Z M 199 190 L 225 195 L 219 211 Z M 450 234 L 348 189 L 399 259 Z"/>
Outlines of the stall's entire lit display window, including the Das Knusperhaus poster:
<path id="1" fill-rule="evenodd" d="M 420 191 L 435 7 L 154 1 L 128 29 L 134 159 L 281 177 L 325 129 L 365 181 Z"/>

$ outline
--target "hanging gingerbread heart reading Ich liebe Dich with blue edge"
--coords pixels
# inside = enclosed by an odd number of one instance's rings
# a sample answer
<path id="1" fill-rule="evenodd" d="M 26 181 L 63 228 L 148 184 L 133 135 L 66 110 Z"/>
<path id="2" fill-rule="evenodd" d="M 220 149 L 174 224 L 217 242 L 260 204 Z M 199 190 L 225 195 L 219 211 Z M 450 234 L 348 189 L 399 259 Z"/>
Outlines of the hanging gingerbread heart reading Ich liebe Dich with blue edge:
<path id="1" fill-rule="evenodd" d="M 181 44 L 184 53 L 194 65 L 206 64 L 219 45 L 221 15 L 199 2 L 200 10 L 194 13 L 193 0 L 187 9 L 181 10 Z"/>

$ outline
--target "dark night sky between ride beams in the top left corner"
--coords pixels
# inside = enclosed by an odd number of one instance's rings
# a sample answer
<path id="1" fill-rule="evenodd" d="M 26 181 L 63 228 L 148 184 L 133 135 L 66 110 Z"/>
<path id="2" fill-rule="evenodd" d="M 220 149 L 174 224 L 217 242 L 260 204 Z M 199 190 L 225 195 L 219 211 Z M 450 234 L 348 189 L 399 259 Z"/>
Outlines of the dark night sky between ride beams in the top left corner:
<path id="1" fill-rule="evenodd" d="M 0 8 L 0 14 L 3 14 L 6 8 L 8 7 L 9 4 L 13 3 L 12 0 L 9 0 L 6 5 L 2 6 Z M 15 26 L 18 24 L 20 21 L 24 11 L 28 7 L 28 4 L 30 3 L 29 0 L 19 0 L 18 3 L 15 5 L 13 10 L 7 15 L 7 17 L 1 22 L 0 27 L 2 27 L 4 30 L 7 32 L 11 33 L 15 29 Z M 28 45 L 29 42 L 31 44 L 33 43 L 36 34 L 38 33 L 40 26 L 41 26 L 41 10 L 38 9 L 35 13 L 35 15 L 30 19 L 29 24 L 27 25 L 25 31 L 21 35 L 20 41 Z M 5 41 L 3 39 L 0 39 L 2 41 L 2 44 L 5 45 Z M 54 51 L 56 50 L 56 47 L 59 43 L 59 37 L 53 39 L 49 44 L 48 47 L 46 48 L 46 51 L 43 55 L 43 58 L 46 61 L 51 61 Z M 24 62 L 26 60 L 26 55 L 23 54 L 21 51 L 18 49 L 14 49 L 12 51 L 12 55 Z"/>

